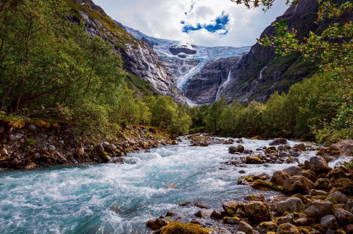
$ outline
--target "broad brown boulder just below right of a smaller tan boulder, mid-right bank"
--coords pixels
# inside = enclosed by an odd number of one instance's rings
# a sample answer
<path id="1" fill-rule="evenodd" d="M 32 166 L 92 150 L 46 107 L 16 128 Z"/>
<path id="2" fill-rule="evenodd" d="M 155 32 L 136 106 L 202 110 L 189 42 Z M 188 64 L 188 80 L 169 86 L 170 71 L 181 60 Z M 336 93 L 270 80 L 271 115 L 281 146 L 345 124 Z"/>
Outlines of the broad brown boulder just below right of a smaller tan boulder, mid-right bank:
<path id="1" fill-rule="evenodd" d="M 304 176 L 293 176 L 283 183 L 282 192 L 285 194 L 301 193 L 305 194 L 315 187 L 309 179 Z"/>

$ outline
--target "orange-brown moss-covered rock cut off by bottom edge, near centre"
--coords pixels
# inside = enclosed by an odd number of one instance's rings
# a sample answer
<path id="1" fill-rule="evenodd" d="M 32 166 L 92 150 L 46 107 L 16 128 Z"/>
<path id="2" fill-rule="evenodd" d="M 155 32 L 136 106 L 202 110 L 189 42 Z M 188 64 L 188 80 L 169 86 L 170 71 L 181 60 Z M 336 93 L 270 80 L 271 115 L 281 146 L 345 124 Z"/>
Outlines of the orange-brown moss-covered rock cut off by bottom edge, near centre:
<path id="1" fill-rule="evenodd" d="M 208 234 L 210 230 L 193 223 L 173 222 L 162 227 L 160 234 Z"/>

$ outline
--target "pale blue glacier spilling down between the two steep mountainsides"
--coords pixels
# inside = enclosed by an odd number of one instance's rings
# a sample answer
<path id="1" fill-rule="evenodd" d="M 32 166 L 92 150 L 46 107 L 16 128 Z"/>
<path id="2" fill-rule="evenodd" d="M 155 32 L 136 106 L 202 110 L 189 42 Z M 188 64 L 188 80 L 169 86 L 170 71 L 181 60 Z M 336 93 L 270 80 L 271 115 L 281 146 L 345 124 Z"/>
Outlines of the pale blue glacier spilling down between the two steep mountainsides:
<path id="1" fill-rule="evenodd" d="M 177 40 L 158 39 L 130 27 L 124 27 L 132 36 L 149 45 L 157 53 L 162 63 L 173 74 L 177 86 L 181 90 L 185 88 L 190 78 L 201 71 L 209 61 L 240 56 L 250 50 L 250 46 L 239 48 L 230 46 L 207 47 Z"/>

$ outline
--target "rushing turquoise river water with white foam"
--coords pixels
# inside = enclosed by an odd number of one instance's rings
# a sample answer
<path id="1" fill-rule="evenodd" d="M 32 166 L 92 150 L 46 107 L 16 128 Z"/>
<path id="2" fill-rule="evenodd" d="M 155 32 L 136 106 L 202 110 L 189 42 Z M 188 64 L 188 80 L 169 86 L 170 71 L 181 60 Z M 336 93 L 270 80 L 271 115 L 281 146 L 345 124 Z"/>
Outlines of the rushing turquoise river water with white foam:
<path id="1" fill-rule="evenodd" d="M 184 222 L 195 218 L 199 208 L 179 207 L 179 202 L 205 201 L 222 209 L 224 201 L 257 193 L 237 185 L 239 170 L 271 175 L 290 166 L 222 166 L 231 158 L 229 145 L 191 147 L 183 140 L 150 153 L 131 153 L 131 164 L 0 171 L 0 233 L 148 233 L 146 221 L 167 211 L 177 212 Z M 244 141 L 242 145 L 252 150 L 269 143 Z M 219 170 L 221 166 L 229 170 Z M 168 184 L 175 188 L 166 188 Z"/>

